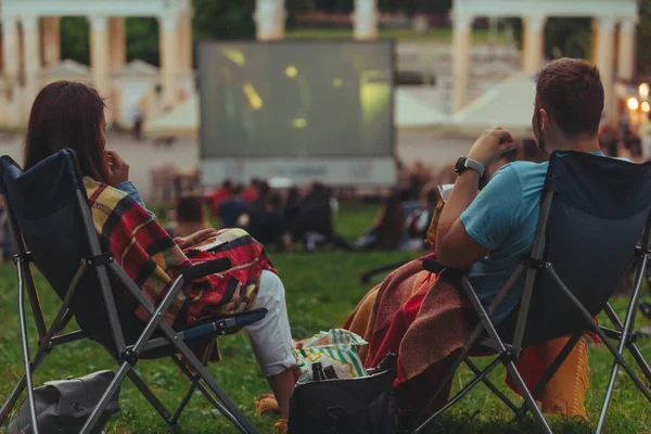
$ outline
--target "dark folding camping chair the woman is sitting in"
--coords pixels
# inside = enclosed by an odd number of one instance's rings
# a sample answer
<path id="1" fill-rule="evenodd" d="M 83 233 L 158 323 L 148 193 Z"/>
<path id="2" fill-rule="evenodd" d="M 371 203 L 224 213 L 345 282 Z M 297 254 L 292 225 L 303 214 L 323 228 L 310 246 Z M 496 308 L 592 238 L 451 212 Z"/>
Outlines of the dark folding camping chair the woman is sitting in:
<path id="1" fill-rule="evenodd" d="M 82 434 L 92 431 L 126 376 L 129 376 L 170 426 L 177 423 L 194 390 L 199 388 L 240 432 L 255 433 L 251 422 L 219 387 L 204 363 L 190 350 L 189 345 L 209 346 L 217 335 L 227 334 L 263 319 L 266 309 L 215 318 L 186 330 L 174 330 L 163 321 L 166 309 L 184 282 L 224 271 L 230 267 L 230 261 L 227 258 L 217 259 L 186 269 L 173 282 L 161 303 L 153 306 L 111 254 L 100 250 L 73 151 L 63 150 L 24 174 L 10 157 L 3 156 L 0 158 L 0 174 L 1 192 L 7 199 L 12 231 L 18 245 L 15 264 L 25 363 L 25 374 L 0 410 L 0 425 L 8 419 L 22 392 L 27 388 L 31 425 L 37 434 L 31 392 L 34 372 L 54 347 L 90 339 L 107 349 L 119 369 L 86 421 Z M 63 302 L 49 328 L 39 305 L 30 263 L 40 270 Z M 129 293 L 129 297 L 125 296 L 125 291 Z M 33 359 L 29 358 L 27 342 L 25 293 L 29 297 L 39 335 L 38 350 Z M 151 315 L 149 322 L 140 321 L 133 314 L 138 304 Z M 80 330 L 63 333 L 73 317 L 76 318 Z M 177 354 L 181 354 L 184 360 L 181 361 Z M 192 383 L 174 414 L 133 370 L 140 359 L 167 356 Z M 192 374 L 186 363 L 196 374 Z"/>

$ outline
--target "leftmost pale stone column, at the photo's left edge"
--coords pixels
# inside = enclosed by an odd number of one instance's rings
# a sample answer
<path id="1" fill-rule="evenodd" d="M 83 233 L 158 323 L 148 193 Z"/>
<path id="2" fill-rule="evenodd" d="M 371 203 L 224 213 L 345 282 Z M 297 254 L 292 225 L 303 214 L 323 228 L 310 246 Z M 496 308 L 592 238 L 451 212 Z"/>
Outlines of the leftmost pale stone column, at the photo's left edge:
<path id="1" fill-rule="evenodd" d="M 20 89 L 20 38 L 18 23 L 15 16 L 2 16 L 2 60 L 4 63 L 4 76 L 7 77 L 7 116 L 10 127 L 17 127 L 21 120 L 21 93 Z"/>

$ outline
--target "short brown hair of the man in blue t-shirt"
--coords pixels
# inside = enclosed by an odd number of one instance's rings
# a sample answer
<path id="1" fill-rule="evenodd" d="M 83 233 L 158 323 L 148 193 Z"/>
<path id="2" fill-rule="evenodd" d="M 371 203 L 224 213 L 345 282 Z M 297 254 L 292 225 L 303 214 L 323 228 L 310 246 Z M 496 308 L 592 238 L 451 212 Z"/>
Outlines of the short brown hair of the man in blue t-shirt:
<path id="1" fill-rule="evenodd" d="M 538 73 L 536 103 L 566 136 L 596 136 L 603 112 L 599 69 L 580 59 L 551 62 Z"/>

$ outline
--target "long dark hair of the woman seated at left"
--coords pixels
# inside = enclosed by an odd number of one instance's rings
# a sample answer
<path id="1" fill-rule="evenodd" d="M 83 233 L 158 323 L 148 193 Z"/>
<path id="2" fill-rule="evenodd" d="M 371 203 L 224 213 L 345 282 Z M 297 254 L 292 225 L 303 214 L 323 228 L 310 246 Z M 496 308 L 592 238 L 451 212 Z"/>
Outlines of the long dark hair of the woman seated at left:
<path id="1" fill-rule="evenodd" d="M 71 148 L 84 175 L 107 182 L 104 101 L 97 90 L 73 81 L 46 86 L 34 101 L 24 149 L 25 169 Z"/>

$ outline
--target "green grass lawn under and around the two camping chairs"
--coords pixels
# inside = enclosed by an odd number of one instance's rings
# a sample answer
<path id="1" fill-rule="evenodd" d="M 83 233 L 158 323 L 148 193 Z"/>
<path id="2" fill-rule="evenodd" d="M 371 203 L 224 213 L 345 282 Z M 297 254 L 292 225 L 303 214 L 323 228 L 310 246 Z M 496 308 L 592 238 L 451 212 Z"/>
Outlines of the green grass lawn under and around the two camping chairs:
<path id="1" fill-rule="evenodd" d="M 340 231 L 353 238 L 361 233 L 372 221 L 375 208 L 368 205 L 344 206 L 337 221 Z M 296 337 L 305 337 L 320 330 L 341 326 L 348 311 L 365 294 L 368 288 L 359 282 L 363 270 L 385 263 L 413 258 L 408 253 L 372 254 L 275 254 L 280 276 L 286 286 L 288 307 L 292 330 Z M 39 288 L 47 285 L 41 279 Z M 0 398 L 12 388 L 22 374 L 18 319 L 16 309 L 16 289 L 13 266 L 0 267 Z M 49 319 L 52 319 L 56 299 L 52 292 L 42 292 L 42 305 Z M 625 299 L 614 301 L 622 311 Z M 607 323 L 607 321 L 604 321 Z M 639 320 L 639 326 L 642 321 Z M 33 330 L 34 332 L 34 330 Z M 255 398 L 268 392 L 265 380 L 258 373 L 254 356 L 244 333 L 225 337 L 220 341 L 224 360 L 210 365 L 209 371 L 217 378 L 231 398 L 250 416 L 261 433 L 273 433 L 273 417 L 257 418 L 254 413 Z M 639 341 L 643 354 L 651 359 L 651 340 Z M 78 342 L 52 352 L 42 369 L 35 376 L 37 384 L 43 381 L 62 379 L 67 375 L 82 375 L 100 369 L 113 369 L 114 365 L 97 345 Z M 138 365 L 139 372 L 159 394 L 164 404 L 174 407 L 184 393 L 187 382 L 178 369 L 168 360 L 143 361 Z M 611 359 L 603 348 L 593 347 L 590 353 L 590 391 L 587 407 L 591 420 L 596 420 L 601 405 L 602 393 L 611 369 Z M 469 371 L 462 369 L 455 381 L 459 387 L 469 378 Z M 503 370 L 497 370 L 492 376 L 505 388 Z M 512 394 L 508 393 L 510 396 Z M 135 387 L 126 382 L 120 393 L 122 413 L 114 418 L 108 426 L 110 433 L 162 433 L 165 424 L 140 397 Z M 432 433 L 516 433 L 533 432 L 531 420 L 514 421 L 503 405 L 478 386 L 454 409 L 438 421 Z M 591 426 L 572 420 L 553 419 L 554 433 L 588 433 Z M 234 430 L 225 418 L 212 410 L 207 401 L 195 396 L 184 417 L 180 420 L 179 433 L 231 433 Z M 621 375 L 608 419 L 608 433 L 651 432 L 651 405 L 637 393 L 633 383 Z"/>

